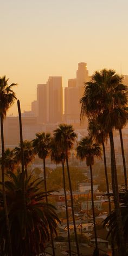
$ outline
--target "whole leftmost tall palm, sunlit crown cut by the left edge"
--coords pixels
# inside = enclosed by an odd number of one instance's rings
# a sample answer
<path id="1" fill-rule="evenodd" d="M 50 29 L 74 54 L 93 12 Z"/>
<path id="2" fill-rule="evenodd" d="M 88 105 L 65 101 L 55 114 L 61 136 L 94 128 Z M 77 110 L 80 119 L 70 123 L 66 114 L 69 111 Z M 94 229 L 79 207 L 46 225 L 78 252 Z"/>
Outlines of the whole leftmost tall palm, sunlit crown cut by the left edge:
<path id="1" fill-rule="evenodd" d="M 8 243 L 9 243 L 9 252 L 10 256 L 12 256 L 11 250 L 11 238 L 10 238 L 10 227 L 9 227 L 9 219 L 8 219 L 8 208 L 7 208 L 7 200 L 5 194 L 5 181 L 4 181 L 4 131 L 3 131 L 3 120 L 6 117 L 7 111 L 9 107 L 14 104 L 16 99 L 14 91 L 12 91 L 12 87 L 16 84 L 8 85 L 8 79 L 6 79 L 5 75 L 0 78 L 0 117 L 1 117 L 1 142 L 2 142 L 2 186 L 3 186 L 3 201 L 4 201 L 4 211 L 7 223 L 7 233 L 8 233 Z"/>

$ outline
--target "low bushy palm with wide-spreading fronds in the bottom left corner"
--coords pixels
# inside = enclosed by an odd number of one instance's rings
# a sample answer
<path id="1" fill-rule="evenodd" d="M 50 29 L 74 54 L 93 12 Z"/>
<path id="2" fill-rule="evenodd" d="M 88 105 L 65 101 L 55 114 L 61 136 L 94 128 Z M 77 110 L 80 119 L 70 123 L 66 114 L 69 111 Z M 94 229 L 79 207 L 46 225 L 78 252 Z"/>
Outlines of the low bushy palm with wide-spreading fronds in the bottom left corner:
<path id="1" fill-rule="evenodd" d="M 12 255 L 39 255 L 44 252 L 50 235 L 56 233 L 60 222 L 56 209 L 46 203 L 46 193 L 41 189 L 42 178 L 31 181 L 31 175 L 25 178 L 26 212 L 23 211 L 22 174 L 9 172 L 9 180 L 5 182 L 7 205 L 12 244 Z M 48 196 L 50 193 L 47 193 Z M 25 215 L 25 216 L 24 216 Z M 0 190 L 0 249 L 3 256 L 10 255 L 7 241 L 4 216 L 3 195 Z"/>

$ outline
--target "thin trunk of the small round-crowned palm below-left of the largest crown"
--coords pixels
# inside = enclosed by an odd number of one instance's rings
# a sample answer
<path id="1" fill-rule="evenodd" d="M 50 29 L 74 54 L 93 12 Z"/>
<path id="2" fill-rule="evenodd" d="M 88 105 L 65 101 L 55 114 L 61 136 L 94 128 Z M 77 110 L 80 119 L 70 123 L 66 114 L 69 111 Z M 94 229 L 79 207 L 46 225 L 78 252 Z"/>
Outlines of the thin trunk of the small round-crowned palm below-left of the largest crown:
<path id="1" fill-rule="evenodd" d="M 91 174 L 91 195 L 92 195 L 92 212 L 93 212 L 93 224 L 94 224 L 94 234 L 95 234 L 95 248 L 98 251 L 98 242 L 97 242 L 97 229 L 95 225 L 95 211 L 94 211 L 94 198 L 93 198 L 93 175 L 92 175 L 92 165 L 89 165 L 90 174 Z"/>

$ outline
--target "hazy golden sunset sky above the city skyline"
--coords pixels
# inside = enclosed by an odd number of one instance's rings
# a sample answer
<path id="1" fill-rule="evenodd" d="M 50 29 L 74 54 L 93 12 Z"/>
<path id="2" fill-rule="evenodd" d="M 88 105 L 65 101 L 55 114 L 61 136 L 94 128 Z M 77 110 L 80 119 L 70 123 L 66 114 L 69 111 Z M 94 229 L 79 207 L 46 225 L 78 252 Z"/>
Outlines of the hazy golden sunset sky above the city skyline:
<path id="1" fill-rule="evenodd" d="M 0 0 L 0 76 L 18 84 L 22 111 L 48 76 L 113 68 L 128 74 L 127 0 Z M 9 113 L 16 114 L 16 104 Z"/>

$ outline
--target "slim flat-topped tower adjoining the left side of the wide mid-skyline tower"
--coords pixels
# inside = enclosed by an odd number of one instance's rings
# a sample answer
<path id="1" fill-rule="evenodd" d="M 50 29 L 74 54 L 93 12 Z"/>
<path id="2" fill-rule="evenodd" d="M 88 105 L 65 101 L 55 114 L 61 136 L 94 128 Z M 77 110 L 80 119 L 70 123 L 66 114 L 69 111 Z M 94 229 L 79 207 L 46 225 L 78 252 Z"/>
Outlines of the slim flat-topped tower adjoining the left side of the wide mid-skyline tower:
<path id="1" fill-rule="evenodd" d="M 46 85 L 37 85 L 37 120 L 39 124 L 47 121 Z"/>

